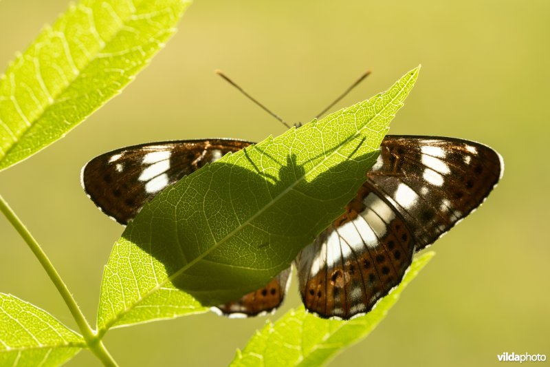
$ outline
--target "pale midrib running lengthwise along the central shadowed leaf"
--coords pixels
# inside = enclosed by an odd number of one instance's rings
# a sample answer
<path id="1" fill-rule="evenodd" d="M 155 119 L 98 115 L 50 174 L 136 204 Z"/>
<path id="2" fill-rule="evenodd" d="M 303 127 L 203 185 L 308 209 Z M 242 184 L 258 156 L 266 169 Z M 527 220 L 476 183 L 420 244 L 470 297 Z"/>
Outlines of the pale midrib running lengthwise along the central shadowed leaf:
<path id="1" fill-rule="evenodd" d="M 416 74 L 416 73 L 415 73 Z M 225 235 L 224 238 L 222 238 L 219 242 L 215 243 L 212 247 L 210 247 L 210 249 L 204 251 L 203 253 L 201 253 L 201 255 L 197 256 L 197 258 L 191 260 L 191 262 L 188 262 L 186 265 L 182 266 L 181 269 L 179 269 L 179 271 L 176 271 L 175 273 L 173 273 L 172 275 L 166 277 L 165 280 L 163 280 L 162 282 L 159 282 L 157 284 L 157 286 L 154 286 L 153 288 L 151 288 L 150 291 L 146 292 L 142 297 L 138 298 L 137 300 L 135 300 L 135 302 L 133 302 L 133 304 L 131 304 L 130 307 L 127 307 L 127 308 L 124 308 L 122 311 L 120 311 L 120 313 L 118 313 L 115 317 L 113 317 L 113 319 L 111 319 L 109 322 L 105 323 L 104 324 L 104 327 L 101 329 L 100 332 L 104 332 L 104 331 L 107 331 L 113 324 L 115 324 L 115 322 L 117 322 L 118 320 L 120 320 L 124 315 L 126 315 L 126 313 L 128 313 L 129 311 L 131 311 L 133 309 L 134 306 L 137 306 L 138 304 L 140 304 L 141 302 L 143 302 L 149 295 L 152 295 L 153 293 L 155 293 L 155 291 L 157 291 L 158 289 L 160 289 L 162 286 L 164 286 L 166 283 L 168 282 L 171 282 L 173 279 L 175 279 L 176 277 L 178 277 L 179 275 L 181 275 L 182 273 L 185 273 L 188 269 L 190 269 L 193 265 L 195 265 L 197 262 L 199 262 L 200 260 L 202 260 L 203 258 L 206 258 L 206 256 L 208 256 L 212 251 L 214 251 L 215 249 L 217 249 L 221 244 L 225 243 L 226 241 L 228 241 L 230 238 L 232 238 L 232 235 L 234 235 L 235 233 L 238 233 L 239 231 L 241 231 L 242 229 L 244 229 L 246 227 L 246 225 L 248 225 L 252 220 L 256 219 L 261 213 L 263 213 L 265 210 L 267 210 L 268 207 L 271 207 L 273 205 L 274 202 L 276 202 L 277 200 L 279 200 L 280 198 L 283 197 L 283 194 L 286 194 L 288 193 L 291 189 L 294 189 L 294 187 L 296 187 L 296 185 L 298 185 L 299 182 L 302 182 L 302 180 L 305 179 L 305 176 L 307 173 L 311 172 L 311 171 L 314 171 L 315 169 L 317 169 L 318 167 L 320 167 L 320 165 L 323 163 L 323 162 L 327 162 L 327 160 L 333 156 L 333 154 L 338 154 L 340 152 L 340 150 L 342 149 L 342 147 L 344 147 L 345 145 L 347 145 L 347 143 L 349 143 L 351 140 L 353 140 L 353 138 L 355 138 L 356 136 L 360 135 L 360 133 L 364 130 L 364 129 L 367 129 L 368 128 L 368 125 L 369 123 L 371 123 L 371 121 L 375 120 L 378 116 L 380 116 L 380 114 L 382 114 L 382 112 L 384 112 L 388 106 L 392 105 L 393 101 L 395 101 L 399 96 L 401 96 L 401 94 L 404 92 L 404 90 L 406 90 L 406 88 L 408 87 L 408 85 L 410 85 L 410 81 L 412 80 L 412 76 L 413 74 L 408 74 L 409 78 L 408 80 L 406 81 L 406 83 L 403 84 L 403 86 L 400 87 L 399 89 L 399 92 L 397 92 L 395 94 L 395 96 L 391 99 L 391 101 L 389 103 L 386 103 L 386 105 L 384 105 L 384 108 L 380 109 L 379 112 L 377 112 L 369 121 L 367 121 L 364 126 L 361 128 L 361 129 L 358 129 L 357 132 L 355 132 L 355 134 L 351 134 L 346 140 L 344 140 L 342 143 L 340 143 L 340 147 L 338 147 L 338 149 L 335 149 L 331 154 L 328 154 L 327 156 L 325 156 L 325 158 L 323 160 L 321 160 L 320 162 L 318 162 L 317 165 L 315 165 L 314 167 L 312 167 L 311 169 L 309 169 L 309 171 L 305 172 L 300 178 L 298 178 L 298 180 L 296 180 L 292 185 L 289 185 L 289 187 L 287 187 L 287 189 L 283 190 L 281 193 L 278 194 L 278 196 L 276 196 L 273 200 L 271 200 L 267 205 L 265 205 L 263 208 L 261 208 L 259 211 L 257 211 L 252 217 L 248 218 L 248 220 L 246 220 L 245 222 L 239 224 L 238 227 L 236 227 L 236 229 L 234 229 L 233 231 L 231 231 L 230 233 L 228 233 L 228 235 Z M 392 86 L 393 87 L 393 86 Z M 374 98 L 377 98 L 377 97 L 380 97 L 380 94 L 378 96 L 375 96 Z M 369 100 L 370 101 L 370 100 Z M 208 220 L 207 220 L 208 221 Z"/>

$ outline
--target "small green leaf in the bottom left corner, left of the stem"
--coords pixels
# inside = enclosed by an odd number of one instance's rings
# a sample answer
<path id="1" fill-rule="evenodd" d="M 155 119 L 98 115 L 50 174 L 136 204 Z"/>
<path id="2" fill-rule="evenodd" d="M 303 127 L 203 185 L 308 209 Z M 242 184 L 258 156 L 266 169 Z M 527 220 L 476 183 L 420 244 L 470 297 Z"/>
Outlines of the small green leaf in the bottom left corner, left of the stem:
<path id="1" fill-rule="evenodd" d="M 0 293 L 0 366 L 59 366 L 82 348 L 83 337 L 52 315 Z"/>

